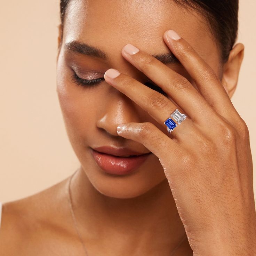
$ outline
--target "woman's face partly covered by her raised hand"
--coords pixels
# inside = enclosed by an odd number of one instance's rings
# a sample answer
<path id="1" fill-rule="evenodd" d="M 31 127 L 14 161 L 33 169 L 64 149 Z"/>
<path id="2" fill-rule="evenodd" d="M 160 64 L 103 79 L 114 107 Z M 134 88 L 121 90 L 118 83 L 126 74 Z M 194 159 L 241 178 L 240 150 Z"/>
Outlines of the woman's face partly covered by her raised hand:
<path id="1" fill-rule="evenodd" d="M 162 35 L 172 29 L 220 75 L 222 66 L 219 66 L 217 47 L 205 20 L 195 11 L 189 13 L 171 0 L 70 1 L 57 59 L 57 93 L 67 134 L 95 189 L 115 198 L 136 197 L 160 182 L 167 182 L 159 159 L 150 154 L 132 173 L 112 175 L 97 165 L 91 148 L 127 147 L 141 153 L 149 152 L 144 145 L 118 136 L 120 123 L 152 122 L 168 133 L 165 125 L 157 123 L 130 98 L 106 83 L 103 79 L 105 71 L 114 68 L 141 83 L 147 82 L 147 77 L 122 57 L 121 49 L 131 43 L 151 55 L 170 53 Z M 66 43 L 74 40 L 104 51 L 106 58 L 88 55 L 86 51 L 82 53 L 81 49 L 78 53 L 65 48 Z M 194 85 L 181 64 L 166 65 Z M 94 86 L 77 85 L 74 72 L 82 79 L 102 79 Z"/>

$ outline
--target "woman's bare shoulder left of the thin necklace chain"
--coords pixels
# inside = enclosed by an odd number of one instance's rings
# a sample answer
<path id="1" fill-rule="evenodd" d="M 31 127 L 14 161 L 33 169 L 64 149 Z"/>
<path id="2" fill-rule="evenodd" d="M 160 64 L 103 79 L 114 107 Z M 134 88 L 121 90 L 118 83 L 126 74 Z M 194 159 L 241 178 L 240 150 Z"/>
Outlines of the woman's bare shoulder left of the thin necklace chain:
<path id="1" fill-rule="evenodd" d="M 51 255 L 56 243 L 70 241 L 66 181 L 67 178 L 29 197 L 3 203 L 1 255 Z"/>

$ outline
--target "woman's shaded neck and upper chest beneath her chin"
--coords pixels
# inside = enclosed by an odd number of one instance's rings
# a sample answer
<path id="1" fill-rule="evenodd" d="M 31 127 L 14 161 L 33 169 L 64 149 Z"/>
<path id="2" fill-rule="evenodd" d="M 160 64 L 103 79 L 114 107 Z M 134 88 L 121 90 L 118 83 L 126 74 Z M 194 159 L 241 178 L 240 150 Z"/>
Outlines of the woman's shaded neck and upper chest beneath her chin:
<path id="1" fill-rule="evenodd" d="M 170 255 L 185 235 L 167 179 L 136 198 L 112 198 L 97 191 L 80 167 L 72 178 L 70 191 L 74 215 L 87 247 L 86 241 L 94 240 L 134 253 L 146 245 L 144 251 L 152 252 L 154 248 L 160 254 L 161 249 Z"/>

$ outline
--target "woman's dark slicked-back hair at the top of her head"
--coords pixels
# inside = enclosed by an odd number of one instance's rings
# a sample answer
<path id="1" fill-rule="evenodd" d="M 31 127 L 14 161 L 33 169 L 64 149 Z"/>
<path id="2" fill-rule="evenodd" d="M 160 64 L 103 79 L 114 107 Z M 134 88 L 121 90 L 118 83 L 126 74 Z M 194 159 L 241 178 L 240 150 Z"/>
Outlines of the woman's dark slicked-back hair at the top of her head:
<path id="1" fill-rule="evenodd" d="M 61 0 L 61 26 L 64 26 L 65 12 L 71 0 Z M 239 0 L 174 0 L 177 5 L 195 10 L 206 18 L 208 27 L 220 51 L 221 62 L 226 63 L 238 31 Z"/>

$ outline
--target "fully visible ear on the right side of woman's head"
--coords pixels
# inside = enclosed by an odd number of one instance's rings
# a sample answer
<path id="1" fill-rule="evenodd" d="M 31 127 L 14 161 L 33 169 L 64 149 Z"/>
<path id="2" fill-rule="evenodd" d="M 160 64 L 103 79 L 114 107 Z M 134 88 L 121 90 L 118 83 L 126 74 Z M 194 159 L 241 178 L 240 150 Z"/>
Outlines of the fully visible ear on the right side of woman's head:
<path id="1" fill-rule="evenodd" d="M 237 88 L 238 76 L 243 60 L 245 46 L 237 43 L 229 54 L 228 61 L 223 66 L 222 84 L 231 98 Z"/>

